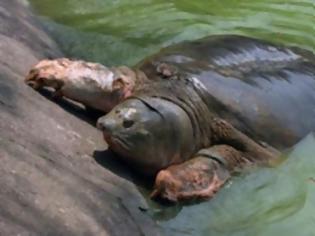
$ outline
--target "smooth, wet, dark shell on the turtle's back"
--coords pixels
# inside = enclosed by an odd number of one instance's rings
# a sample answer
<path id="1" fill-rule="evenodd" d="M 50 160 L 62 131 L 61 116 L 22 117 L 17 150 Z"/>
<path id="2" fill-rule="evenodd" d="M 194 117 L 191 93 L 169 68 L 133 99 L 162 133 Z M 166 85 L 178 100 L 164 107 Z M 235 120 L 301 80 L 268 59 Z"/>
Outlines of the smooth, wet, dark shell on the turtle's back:
<path id="1" fill-rule="evenodd" d="M 206 87 L 209 109 L 255 139 L 287 147 L 315 130 L 315 56 L 243 36 L 163 49 L 138 66 L 167 62 Z"/>

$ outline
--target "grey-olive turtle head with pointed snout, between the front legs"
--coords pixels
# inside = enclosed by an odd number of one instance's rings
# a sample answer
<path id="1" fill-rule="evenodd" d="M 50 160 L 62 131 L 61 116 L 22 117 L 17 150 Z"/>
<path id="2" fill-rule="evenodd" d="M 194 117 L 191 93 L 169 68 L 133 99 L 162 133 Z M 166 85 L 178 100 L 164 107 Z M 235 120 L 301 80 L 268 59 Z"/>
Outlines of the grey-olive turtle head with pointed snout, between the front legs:
<path id="1" fill-rule="evenodd" d="M 193 141 L 187 114 L 159 98 L 129 98 L 101 117 L 97 127 L 110 149 L 148 175 L 187 159 Z"/>

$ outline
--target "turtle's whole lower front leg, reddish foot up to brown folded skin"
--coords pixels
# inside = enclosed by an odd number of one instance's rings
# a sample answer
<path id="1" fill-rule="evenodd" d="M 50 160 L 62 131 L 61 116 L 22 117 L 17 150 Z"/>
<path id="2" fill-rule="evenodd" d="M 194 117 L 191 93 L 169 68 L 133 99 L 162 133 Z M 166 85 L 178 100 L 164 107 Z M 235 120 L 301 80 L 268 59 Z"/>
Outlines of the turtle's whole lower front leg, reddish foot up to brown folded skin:
<path id="1" fill-rule="evenodd" d="M 250 163 L 228 145 L 202 149 L 189 161 L 160 171 L 151 197 L 170 202 L 211 198 L 236 169 Z"/>

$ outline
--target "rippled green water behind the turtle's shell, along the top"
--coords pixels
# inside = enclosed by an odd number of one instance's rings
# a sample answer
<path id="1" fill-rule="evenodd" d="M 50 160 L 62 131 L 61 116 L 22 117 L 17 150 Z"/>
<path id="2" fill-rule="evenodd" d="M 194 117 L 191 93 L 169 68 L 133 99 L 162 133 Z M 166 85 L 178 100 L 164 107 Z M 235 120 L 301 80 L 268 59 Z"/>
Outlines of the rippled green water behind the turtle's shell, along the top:
<path id="1" fill-rule="evenodd" d="M 31 0 L 67 55 L 132 65 L 162 46 L 243 34 L 315 50 L 314 0 Z M 83 31 L 78 32 L 78 31 Z"/>

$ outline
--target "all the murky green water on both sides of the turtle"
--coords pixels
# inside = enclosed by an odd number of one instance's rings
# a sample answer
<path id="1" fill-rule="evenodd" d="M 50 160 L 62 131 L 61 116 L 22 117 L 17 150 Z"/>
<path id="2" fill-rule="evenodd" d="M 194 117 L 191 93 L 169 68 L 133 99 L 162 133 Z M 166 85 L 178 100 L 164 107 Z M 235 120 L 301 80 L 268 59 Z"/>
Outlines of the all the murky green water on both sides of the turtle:
<path id="1" fill-rule="evenodd" d="M 243 34 L 315 51 L 315 0 L 32 0 L 66 55 L 132 65 L 161 47 Z M 314 181 L 312 180 L 314 178 Z M 148 212 L 168 235 L 315 236 L 315 138 L 211 201 Z"/>

